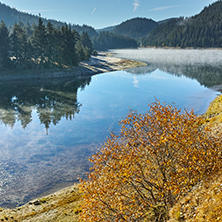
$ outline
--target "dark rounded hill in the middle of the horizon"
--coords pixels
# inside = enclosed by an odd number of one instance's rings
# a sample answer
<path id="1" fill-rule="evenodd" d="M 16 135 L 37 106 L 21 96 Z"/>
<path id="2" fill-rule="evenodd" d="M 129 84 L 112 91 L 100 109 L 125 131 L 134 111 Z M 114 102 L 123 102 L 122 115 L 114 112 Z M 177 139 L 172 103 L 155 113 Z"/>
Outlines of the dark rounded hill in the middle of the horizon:
<path id="1" fill-rule="evenodd" d="M 158 23 L 147 18 L 133 18 L 117 25 L 112 32 L 131 38 L 140 38 L 156 28 Z"/>

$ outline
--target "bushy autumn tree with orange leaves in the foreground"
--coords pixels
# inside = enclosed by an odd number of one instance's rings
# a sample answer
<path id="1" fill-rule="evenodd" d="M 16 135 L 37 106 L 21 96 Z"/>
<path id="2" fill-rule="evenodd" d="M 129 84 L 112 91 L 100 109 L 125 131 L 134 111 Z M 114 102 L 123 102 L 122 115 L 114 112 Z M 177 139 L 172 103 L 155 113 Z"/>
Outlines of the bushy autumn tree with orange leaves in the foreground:
<path id="1" fill-rule="evenodd" d="M 155 101 L 120 124 L 120 134 L 111 133 L 91 157 L 88 180 L 81 180 L 81 221 L 149 221 L 152 209 L 168 210 L 221 167 L 221 137 L 203 129 L 193 112 Z"/>

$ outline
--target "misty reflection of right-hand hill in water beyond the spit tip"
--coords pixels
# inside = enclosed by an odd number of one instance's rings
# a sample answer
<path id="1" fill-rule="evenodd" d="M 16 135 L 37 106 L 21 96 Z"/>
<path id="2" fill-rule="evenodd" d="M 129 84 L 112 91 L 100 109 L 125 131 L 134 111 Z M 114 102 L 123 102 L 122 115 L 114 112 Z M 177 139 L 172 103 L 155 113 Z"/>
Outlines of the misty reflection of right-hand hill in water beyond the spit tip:
<path id="1" fill-rule="evenodd" d="M 186 76 L 197 80 L 201 85 L 222 91 L 222 65 L 175 65 L 165 63 L 152 63 L 148 66 L 128 69 L 131 74 L 147 74 L 161 70 L 175 76 Z"/>

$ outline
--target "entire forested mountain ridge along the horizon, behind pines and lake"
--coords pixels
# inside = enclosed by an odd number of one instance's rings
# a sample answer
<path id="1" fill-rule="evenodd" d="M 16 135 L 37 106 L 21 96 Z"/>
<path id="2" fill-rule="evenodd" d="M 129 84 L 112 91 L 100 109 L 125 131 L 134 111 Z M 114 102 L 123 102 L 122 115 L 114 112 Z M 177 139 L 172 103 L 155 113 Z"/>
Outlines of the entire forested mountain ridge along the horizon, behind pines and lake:
<path id="1" fill-rule="evenodd" d="M 77 32 L 87 32 L 96 45 L 100 41 L 100 33 L 110 33 L 108 39 L 104 39 L 106 47 L 113 45 L 116 38 L 121 41 L 128 41 L 133 38 L 138 45 L 147 47 L 222 47 L 222 0 L 218 0 L 191 17 L 167 18 L 161 21 L 154 21 L 148 18 L 136 17 L 123 21 L 115 26 L 108 26 L 102 29 L 94 29 L 88 25 L 71 25 Z M 20 12 L 14 8 L 0 3 L 0 20 L 7 26 L 14 23 L 37 24 L 39 16 Z M 67 23 L 52 19 L 42 19 L 44 23 L 51 22 L 55 27 Z M 115 36 L 115 35 L 117 36 Z M 104 35 L 104 33 L 103 33 Z M 124 39 L 124 37 L 126 39 Z M 118 40 L 118 41 L 119 41 Z M 100 44 L 100 43 L 99 43 Z M 101 44 L 100 44 L 101 45 Z M 104 45 L 102 43 L 102 45 Z M 130 44 L 133 47 L 135 44 Z M 116 46 L 115 46 L 116 47 Z M 100 47 L 99 47 L 100 48 Z M 104 50 L 105 50 L 104 48 Z"/>

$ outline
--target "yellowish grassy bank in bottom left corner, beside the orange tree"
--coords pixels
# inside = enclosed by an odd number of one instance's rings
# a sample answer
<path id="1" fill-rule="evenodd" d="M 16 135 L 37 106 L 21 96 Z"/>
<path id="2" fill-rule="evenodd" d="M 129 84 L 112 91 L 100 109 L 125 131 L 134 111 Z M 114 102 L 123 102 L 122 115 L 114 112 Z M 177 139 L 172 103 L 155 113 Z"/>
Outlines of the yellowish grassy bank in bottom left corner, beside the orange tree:
<path id="1" fill-rule="evenodd" d="M 80 198 L 78 187 L 69 187 L 16 209 L 1 209 L 0 221 L 78 221 Z"/>

